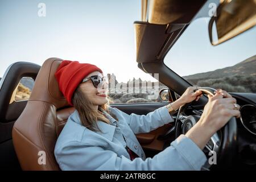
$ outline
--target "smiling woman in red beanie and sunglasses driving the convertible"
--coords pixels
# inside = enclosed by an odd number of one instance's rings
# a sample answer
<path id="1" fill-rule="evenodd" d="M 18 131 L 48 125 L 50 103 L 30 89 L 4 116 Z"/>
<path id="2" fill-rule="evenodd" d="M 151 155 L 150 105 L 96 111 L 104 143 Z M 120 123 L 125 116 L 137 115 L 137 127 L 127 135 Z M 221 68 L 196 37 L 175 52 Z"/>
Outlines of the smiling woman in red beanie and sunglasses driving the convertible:
<path id="1" fill-rule="evenodd" d="M 154 158 L 146 158 L 135 134 L 173 122 L 170 113 L 198 100 L 201 91 L 193 92 L 195 88 L 189 87 L 172 104 L 147 115 L 128 115 L 108 106 L 102 71 L 95 65 L 63 61 L 55 76 L 61 92 L 76 109 L 55 146 L 62 170 L 200 170 L 207 160 L 202 149 L 210 137 L 231 117 L 240 117 L 236 100 L 218 90 L 208 96 L 203 115 L 187 134 Z"/>

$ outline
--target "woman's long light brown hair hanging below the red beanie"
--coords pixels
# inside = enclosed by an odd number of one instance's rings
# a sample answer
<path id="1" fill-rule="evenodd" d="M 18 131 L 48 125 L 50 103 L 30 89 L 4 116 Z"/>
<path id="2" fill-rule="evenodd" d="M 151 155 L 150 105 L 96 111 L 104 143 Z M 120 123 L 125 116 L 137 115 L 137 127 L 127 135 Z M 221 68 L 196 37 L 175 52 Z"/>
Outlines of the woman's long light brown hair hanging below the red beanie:
<path id="1" fill-rule="evenodd" d="M 79 118 L 82 125 L 92 131 L 100 131 L 96 123 L 98 120 L 110 124 L 109 119 L 100 111 L 100 108 L 118 121 L 118 118 L 109 110 L 109 102 L 104 105 L 99 105 L 97 111 L 93 110 L 92 103 L 88 100 L 85 94 L 82 93 L 79 86 L 73 94 L 72 102 L 75 109 L 79 113 Z"/>

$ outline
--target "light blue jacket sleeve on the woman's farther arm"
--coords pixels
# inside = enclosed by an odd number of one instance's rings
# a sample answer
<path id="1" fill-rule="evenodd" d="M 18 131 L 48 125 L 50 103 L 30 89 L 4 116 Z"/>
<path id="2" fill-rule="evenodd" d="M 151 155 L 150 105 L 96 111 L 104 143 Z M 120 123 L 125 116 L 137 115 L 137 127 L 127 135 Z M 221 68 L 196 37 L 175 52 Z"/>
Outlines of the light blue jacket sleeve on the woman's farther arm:
<path id="1" fill-rule="evenodd" d="M 117 108 L 112 107 L 111 111 L 117 115 L 118 118 L 125 120 L 130 126 L 131 130 L 133 130 L 134 134 L 149 133 L 160 126 L 174 121 L 166 106 L 160 107 L 147 115 L 138 115 L 134 113 L 129 115 Z"/>

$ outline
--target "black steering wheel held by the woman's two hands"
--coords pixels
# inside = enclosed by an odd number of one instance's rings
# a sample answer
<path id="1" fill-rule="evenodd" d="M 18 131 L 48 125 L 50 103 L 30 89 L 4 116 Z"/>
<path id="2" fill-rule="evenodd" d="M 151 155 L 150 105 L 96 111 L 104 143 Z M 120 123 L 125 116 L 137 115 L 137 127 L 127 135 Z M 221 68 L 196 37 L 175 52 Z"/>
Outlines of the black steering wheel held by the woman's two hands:
<path id="1" fill-rule="evenodd" d="M 194 92 L 200 90 L 203 94 L 210 94 L 214 96 L 215 89 L 209 87 L 201 87 L 195 89 Z M 186 115 L 185 111 L 188 106 L 191 105 L 187 103 L 180 106 L 177 113 L 175 122 L 175 138 L 179 137 L 180 134 L 185 134 L 189 129 L 191 129 L 201 117 L 201 113 L 195 110 L 195 115 Z M 224 127 L 217 131 L 209 140 L 205 146 L 203 152 L 210 158 L 216 152 L 216 165 L 210 164 L 207 160 L 204 169 L 227 169 L 232 164 L 232 159 L 236 155 L 236 144 L 237 144 L 237 122 L 236 118 L 232 117 Z"/>

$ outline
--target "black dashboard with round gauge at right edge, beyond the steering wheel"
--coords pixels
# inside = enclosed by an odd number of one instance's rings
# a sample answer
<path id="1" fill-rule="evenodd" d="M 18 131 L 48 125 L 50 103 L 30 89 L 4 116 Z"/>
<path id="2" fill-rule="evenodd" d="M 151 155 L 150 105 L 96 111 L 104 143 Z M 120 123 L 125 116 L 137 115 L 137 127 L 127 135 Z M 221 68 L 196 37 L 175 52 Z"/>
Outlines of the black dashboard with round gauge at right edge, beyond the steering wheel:
<path id="1" fill-rule="evenodd" d="M 239 104 L 241 117 L 237 118 L 236 169 L 256 169 L 256 94 L 230 93 Z"/>

